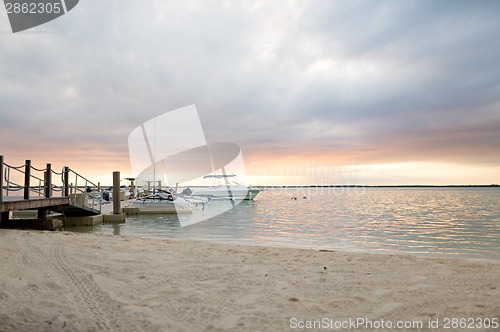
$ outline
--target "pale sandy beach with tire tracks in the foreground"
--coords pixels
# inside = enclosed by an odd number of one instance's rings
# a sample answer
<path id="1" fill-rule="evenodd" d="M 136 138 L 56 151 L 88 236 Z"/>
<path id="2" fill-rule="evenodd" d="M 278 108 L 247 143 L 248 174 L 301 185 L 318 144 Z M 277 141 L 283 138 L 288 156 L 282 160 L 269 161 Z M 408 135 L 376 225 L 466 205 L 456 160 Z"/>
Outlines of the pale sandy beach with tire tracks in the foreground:
<path id="1" fill-rule="evenodd" d="M 0 230 L 0 265 L 1 331 L 499 330 L 496 262 Z"/>

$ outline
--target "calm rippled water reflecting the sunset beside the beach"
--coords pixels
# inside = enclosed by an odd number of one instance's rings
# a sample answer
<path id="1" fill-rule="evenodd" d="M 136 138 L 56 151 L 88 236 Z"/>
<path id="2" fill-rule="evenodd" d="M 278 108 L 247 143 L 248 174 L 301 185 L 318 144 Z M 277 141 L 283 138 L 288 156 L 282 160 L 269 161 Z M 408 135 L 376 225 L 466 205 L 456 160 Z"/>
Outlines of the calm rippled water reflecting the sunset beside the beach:
<path id="1" fill-rule="evenodd" d="M 218 204 L 211 202 L 206 209 Z M 204 212 L 198 208 L 194 213 Z M 174 216 L 135 216 L 125 224 L 103 224 L 90 231 L 500 260 L 500 189 L 273 189 L 187 227 Z"/>

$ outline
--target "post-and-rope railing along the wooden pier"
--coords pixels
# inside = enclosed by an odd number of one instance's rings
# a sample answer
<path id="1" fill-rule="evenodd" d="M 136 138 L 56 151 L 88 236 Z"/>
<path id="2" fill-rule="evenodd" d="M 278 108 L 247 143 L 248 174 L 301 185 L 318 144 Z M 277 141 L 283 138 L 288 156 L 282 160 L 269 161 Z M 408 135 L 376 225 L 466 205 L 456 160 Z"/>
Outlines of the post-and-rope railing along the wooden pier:
<path id="1" fill-rule="evenodd" d="M 59 177 L 59 185 L 56 185 L 54 180 Z M 9 196 L 24 200 L 69 197 L 71 205 L 96 213 L 101 212 L 102 205 L 100 187 L 67 166 L 61 172 L 54 171 L 51 164 L 35 168 L 31 160 L 12 166 L 0 156 L 0 203 Z"/>

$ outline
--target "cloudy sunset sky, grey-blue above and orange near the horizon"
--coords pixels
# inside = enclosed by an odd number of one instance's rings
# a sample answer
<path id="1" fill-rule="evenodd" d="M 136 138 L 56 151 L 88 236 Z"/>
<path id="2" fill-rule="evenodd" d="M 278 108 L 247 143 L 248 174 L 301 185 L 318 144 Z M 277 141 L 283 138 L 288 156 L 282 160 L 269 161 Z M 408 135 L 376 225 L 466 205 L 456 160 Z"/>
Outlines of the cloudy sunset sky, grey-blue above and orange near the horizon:
<path id="1" fill-rule="evenodd" d="M 500 183 L 498 17 L 495 0 L 81 0 L 13 34 L 0 8 L 0 155 L 134 176 L 129 134 L 196 105 L 254 185 Z"/>

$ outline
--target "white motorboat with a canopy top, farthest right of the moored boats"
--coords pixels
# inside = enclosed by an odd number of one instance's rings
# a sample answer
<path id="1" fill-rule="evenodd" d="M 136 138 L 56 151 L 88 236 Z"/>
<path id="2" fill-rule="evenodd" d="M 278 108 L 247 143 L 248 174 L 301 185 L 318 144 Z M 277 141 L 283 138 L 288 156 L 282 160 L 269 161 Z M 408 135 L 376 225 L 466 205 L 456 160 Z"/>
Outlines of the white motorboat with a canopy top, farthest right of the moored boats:
<path id="1" fill-rule="evenodd" d="M 261 189 L 241 183 L 235 174 L 209 174 L 203 179 L 212 180 L 212 185 L 190 189 L 191 196 L 207 197 L 211 200 L 253 200 L 261 192 Z"/>

